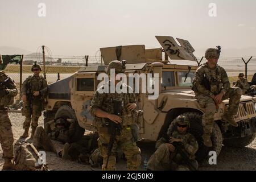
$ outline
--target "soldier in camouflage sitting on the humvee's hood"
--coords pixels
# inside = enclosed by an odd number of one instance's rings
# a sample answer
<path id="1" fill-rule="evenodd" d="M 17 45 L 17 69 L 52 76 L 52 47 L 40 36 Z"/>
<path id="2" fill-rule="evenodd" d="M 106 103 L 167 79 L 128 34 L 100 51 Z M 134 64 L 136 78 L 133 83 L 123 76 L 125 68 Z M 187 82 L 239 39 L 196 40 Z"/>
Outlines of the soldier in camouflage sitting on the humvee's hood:
<path id="1" fill-rule="evenodd" d="M 214 113 L 217 111 L 216 107 L 218 107 L 218 104 L 221 104 L 222 100 L 229 98 L 228 111 L 225 112 L 222 120 L 237 127 L 238 124 L 233 116 L 237 114 L 242 95 L 240 88 L 230 88 L 229 78 L 225 69 L 217 65 L 219 57 L 220 47 L 207 49 L 205 52 L 207 63 L 204 63 L 197 69 L 193 82 L 193 90 L 195 91 L 197 102 L 201 107 L 205 108 L 202 119 L 203 139 L 205 146 L 208 147 L 212 146 L 210 137 L 214 124 Z M 204 81 L 205 78 L 206 81 Z"/>

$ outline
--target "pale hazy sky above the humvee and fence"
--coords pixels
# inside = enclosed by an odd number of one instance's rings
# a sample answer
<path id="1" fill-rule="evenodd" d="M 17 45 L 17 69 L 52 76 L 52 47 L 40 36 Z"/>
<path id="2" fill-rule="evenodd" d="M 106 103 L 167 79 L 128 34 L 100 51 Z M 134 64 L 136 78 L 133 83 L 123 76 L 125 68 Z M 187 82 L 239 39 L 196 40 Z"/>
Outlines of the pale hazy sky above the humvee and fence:
<path id="1" fill-rule="evenodd" d="M 40 2 L 46 17 L 38 16 Z M 209 3 L 217 5 L 215 18 Z M 155 35 L 167 35 L 195 49 L 256 47 L 255 9 L 255 0 L 0 0 L 0 46 L 94 55 L 100 47 L 160 47 Z"/>

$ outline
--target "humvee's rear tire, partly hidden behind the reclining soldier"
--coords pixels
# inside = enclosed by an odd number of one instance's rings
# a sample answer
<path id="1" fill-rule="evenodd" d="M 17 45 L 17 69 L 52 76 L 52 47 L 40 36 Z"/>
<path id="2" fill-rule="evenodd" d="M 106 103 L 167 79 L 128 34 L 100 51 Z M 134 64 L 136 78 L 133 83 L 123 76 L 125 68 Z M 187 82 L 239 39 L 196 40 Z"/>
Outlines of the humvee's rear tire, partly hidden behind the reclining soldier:
<path id="1" fill-rule="evenodd" d="M 77 122 L 75 111 L 72 109 L 69 105 L 63 105 L 61 106 L 56 114 L 55 119 L 57 118 L 69 118 L 69 119 L 75 119 L 76 123 L 76 131 L 71 136 L 71 142 L 76 142 L 77 140 L 81 139 L 81 137 L 84 135 L 85 129 L 79 126 L 79 123 Z"/>

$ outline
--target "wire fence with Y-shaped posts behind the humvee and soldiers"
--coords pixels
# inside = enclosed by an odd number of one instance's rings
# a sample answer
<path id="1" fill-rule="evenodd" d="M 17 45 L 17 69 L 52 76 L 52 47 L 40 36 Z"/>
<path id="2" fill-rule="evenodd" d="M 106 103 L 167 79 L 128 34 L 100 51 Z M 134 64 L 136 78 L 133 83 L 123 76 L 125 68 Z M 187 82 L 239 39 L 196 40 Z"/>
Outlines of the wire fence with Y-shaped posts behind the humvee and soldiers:
<path id="1" fill-rule="evenodd" d="M 40 58 L 39 58 L 40 57 Z M 202 57 L 197 57 L 197 60 L 200 61 Z M 250 59 L 250 57 L 243 57 L 245 62 Z M 42 70 L 43 60 L 42 56 L 24 56 L 23 65 L 22 65 L 22 82 L 32 74 L 31 66 L 34 64 L 34 61 L 37 61 L 41 65 Z M 203 58 L 200 64 L 205 63 L 207 60 Z M 64 79 L 71 76 L 73 73 L 79 71 L 81 67 L 84 67 L 88 64 L 90 65 L 100 65 L 101 57 L 100 55 L 94 56 L 46 56 L 46 77 L 48 83 L 57 81 L 58 79 Z M 185 61 L 185 60 L 170 60 L 171 64 L 183 64 L 183 65 L 198 65 L 194 61 Z M 103 63 L 104 64 L 104 63 Z M 226 69 L 230 82 L 236 81 L 239 73 L 245 73 L 245 63 L 242 60 L 242 57 L 220 57 L 218 64 Z M 16 83 L 20 82 L 20 65 L 7 65 L 5 72 L 8 73 Z M 247 78 L 251 80 L 251 77 L 256 72 L 256 56 L 252 57 L 249 63 L 247 64 Z M 43 71 L 42 71 L 43 73 Z"/>

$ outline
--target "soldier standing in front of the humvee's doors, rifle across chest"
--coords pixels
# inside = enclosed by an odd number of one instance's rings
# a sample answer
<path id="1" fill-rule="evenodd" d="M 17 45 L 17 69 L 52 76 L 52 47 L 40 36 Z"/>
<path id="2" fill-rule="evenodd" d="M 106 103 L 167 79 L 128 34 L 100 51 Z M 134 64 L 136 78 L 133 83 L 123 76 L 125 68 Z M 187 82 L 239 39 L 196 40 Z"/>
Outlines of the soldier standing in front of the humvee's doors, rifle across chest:
<path id="1" fill-rule="evenodd" d="M 117 73 L 125 72 L 125 65 L 121 61 L 112 61 L 109 63 L 106 73 L 110 75 L 110 69 L 115 69 L 115 75 Z M 111 79 L 111 78 L 110 78 Z M 136 100 L 133 93 L 100 93 L 99 90 L 104 89 L 105 86 L 110 87 L 110 82 L 117 85 L 118 81 L 110 80 L 108 84 L 102 85 L 95 93 L 90 106 L 90 113 L 95 116 L 93 125 L 97 127 L 98 134 L 98 146 L 100 148 L 101 155 L 103 157 L 102 170 L 115 170 L 115 152 L 118 148 L 121 148 L 127 159 L 127 169 L 137 170 L 141 164 L 141 150 L 137 146 L 133 137 L 131 126 L 135 124 L 132 111 L 136 109 Z M 130 86 L 122 84 L 125 90 L 129 91 Z M 110 89 L 109 89 L 110 90 Z M 122 101 L 121 115 L 113 114 L 113 100 Z M 109 157 L 108 168 L 106 168 L 106 161 L 108 159 L 108 144 L 110 140 L 110 133 L 108 132 L 107 123 L 110 122 L 119 123 L 122 127 L 121 134 L 115 136 L 111 155 Z"/>

